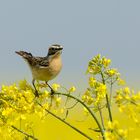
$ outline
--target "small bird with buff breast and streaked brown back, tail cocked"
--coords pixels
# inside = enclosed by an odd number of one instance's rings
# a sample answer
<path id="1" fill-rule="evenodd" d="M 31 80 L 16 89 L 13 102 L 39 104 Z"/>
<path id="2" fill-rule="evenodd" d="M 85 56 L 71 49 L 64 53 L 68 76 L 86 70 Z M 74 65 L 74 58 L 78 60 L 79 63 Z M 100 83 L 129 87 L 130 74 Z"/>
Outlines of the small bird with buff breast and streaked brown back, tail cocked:
<path id="1" fill-rule="evenodd" d="M 32 73 L 32 84 L 35 89 L 35 97 L 39 97 L 39 93 L 35 86 L 35 81 L 45 81 L 51 89 L 51 94 L 54 93 L 48 81 L 54 79 L 62 69 L 62 54 L 63 46 L 53 44 L 48 48 L 48 53 L 45 57 L 36 57 L 26 51 L 15 51 L 18 55 L 27 62 Z"/>

